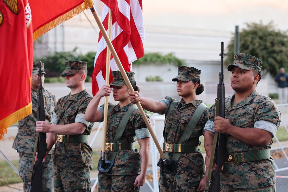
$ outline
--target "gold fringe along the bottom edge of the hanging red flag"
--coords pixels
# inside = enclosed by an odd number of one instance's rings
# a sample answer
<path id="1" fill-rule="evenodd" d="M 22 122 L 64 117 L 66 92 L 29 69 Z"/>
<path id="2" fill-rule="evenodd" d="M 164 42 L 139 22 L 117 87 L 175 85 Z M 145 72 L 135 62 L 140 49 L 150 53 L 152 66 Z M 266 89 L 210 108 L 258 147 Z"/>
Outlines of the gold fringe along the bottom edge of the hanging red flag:
<path id="1" fill-rule="evenodd" d="M 13 125 L 15 122 L 27 117 L 32 113 L 32 102 L 29 103 L 27 106 L 15 111 L 5 119 L 0 121 L 0 140 L 5 136 L 7 133 L 7 128 Z"/>

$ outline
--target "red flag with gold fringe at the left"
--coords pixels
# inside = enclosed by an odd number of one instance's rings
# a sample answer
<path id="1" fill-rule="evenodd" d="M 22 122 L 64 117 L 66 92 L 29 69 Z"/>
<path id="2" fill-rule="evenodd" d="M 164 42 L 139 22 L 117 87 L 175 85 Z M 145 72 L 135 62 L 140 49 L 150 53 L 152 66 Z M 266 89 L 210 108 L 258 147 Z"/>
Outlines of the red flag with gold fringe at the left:
<path id="1" fill-rule="evenodd" d="M 0 1 L 0 140 L 32 112 L 33 41 L 91 7 L 92 0 Z"/>

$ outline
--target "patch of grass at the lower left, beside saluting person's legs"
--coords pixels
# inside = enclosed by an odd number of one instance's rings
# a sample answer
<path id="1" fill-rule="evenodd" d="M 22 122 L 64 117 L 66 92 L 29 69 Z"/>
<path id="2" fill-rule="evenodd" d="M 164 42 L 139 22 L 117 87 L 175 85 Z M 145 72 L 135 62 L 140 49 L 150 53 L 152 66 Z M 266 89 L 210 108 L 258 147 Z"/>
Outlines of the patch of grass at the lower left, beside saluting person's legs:
<path id="1" fill-rule="evenodd" d="M 13 160 L 11 163 L 18 169 L 18 160 Z M 7 161 L 0 161 L 0 186 L 10 185 L 13 183 L 22 182 L 20 176 L 8 164 Z"/>

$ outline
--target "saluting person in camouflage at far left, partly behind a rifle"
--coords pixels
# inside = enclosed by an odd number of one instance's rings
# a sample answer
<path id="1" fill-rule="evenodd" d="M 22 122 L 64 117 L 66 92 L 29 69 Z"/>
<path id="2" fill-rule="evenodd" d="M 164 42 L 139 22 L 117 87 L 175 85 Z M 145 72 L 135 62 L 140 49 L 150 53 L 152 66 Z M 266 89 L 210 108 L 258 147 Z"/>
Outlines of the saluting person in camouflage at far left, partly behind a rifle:
<path id="1" fill-rule="evenodd" d="M 42 74 L 46 74 L 44 72 L 44 64 L 41 63 Z M 32 113 L 21 119 L 18 122 L 18 133 L 13 142 L 13 148 L 17 150 L 19 153 L 19 174 L 21 179 L 24 182 L 23 189 L 24 192 L 29 190 L 29 174 L 30 167 L 33 159 L 33 152 L 35 147 L 36 140 L 36 121 L 37 121 L 37 106 L 38 106 L 38 89 L 37 85 L 39 84 L 39 62 L 33 63 L 33 71 L 32 71 L 32 84 L 31 84 L 31 97 L 32 97 Z M 40 81 L 39 81 L 40 82 Z M 42 75 L 42 82 L 44 82 L 44 75 Z M 33 88 L 32 88 L 33 87 Z M 43 88 L 43 87 L 42 87 Z M 44 98 L 44 114 L 45 119 L 47 121 L 51 121 L 54 108 L 56 106 L 56 98 L 55 95 L 50 91 L 47 91 L 43 88 L 43 98 Z M 51 159 L 51 152 L 49 152 L 46 161 L 42 162 L 42 183 L 43 183 L 43 191 L 53 191 L 53 163 Z"/>

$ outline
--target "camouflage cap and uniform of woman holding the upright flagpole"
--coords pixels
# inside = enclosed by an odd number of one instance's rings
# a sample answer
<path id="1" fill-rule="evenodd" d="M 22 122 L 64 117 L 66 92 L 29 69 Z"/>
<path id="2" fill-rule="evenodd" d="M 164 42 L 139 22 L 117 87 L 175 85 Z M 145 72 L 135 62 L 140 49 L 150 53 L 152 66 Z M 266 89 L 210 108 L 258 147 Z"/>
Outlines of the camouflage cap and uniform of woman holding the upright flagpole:
<path id="1" fill-rule="evenodd" d="M 127 73 L 127 72 L 126 72 Z M 122 86 L 125 85 L 125 81 L 120 71 L 113 71 L 113 82 L 111 86 Z M 127 73 L 130 81 L 134 79 L 134 73 Z M 108 108 L 113 104 L 108 103 Z M 118 126 L 128 109 L 132 107 L 130 103 L 124 107 L 119 104 L 108 114 L 107 117 L 107 132 L 106 132 L 106 143 L 112 143 L 117 132 Z M 104 104 L 98 108 L 101 112 L 102 117 L 104 116 Z M 104 118 L 102 119 L 102 121 Z M 144 122 L 144 119 L 138 109 L 136 109 L 129 118 L 129 121 L 124 129 L 121 136 L 121 140 L 130 136 L 136 135 L 137 139 L 150 137 L 148 128 Z M 110 151 L 105 152 L 109 159 Z M 100 157 L 98 167 L 100 164 Z M 111 192 L 111 191 L 139 191 L 140 187 L 134 187 L 136 177 L 140 174 L 141 161 L 140 153 L 137 149 L 135 150 L 122 150 L 118 151 L 115 156 L 114 165 L 109 172 L 98 172 L 98 191 L 100 192 Z"/>

